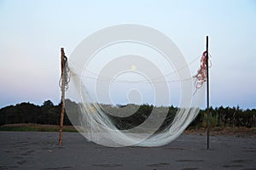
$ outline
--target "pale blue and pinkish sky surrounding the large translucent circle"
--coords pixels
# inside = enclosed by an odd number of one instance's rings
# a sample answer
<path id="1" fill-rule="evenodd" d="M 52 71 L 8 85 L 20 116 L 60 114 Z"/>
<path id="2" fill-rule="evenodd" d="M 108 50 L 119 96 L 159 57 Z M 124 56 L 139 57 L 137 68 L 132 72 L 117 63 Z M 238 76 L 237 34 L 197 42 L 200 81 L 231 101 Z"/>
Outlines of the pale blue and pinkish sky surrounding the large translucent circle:
<path id="1" fill-rule="evenodd" d="M 0 0 L 0 108 L 61 100 L 60 48 L 119 24 L 150 26 L 191 61 L 212 55 L 210 103 L 256 108 L 256 2 Z"/>

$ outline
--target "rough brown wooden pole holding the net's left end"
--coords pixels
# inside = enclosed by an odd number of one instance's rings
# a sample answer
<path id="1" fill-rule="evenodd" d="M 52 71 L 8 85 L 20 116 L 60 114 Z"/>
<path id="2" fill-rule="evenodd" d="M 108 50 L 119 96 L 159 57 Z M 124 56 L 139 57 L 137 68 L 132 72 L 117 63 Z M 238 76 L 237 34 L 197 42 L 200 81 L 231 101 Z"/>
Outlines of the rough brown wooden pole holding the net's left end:
<path id="1" fill-rule="evenodd" d="M 64 48 L 61 48 L 61 122 L 60 122 L 60 134 L 59 145 L 62 145 L 62 131 L 63 131 L 63 119 L 65 111 L 65 53 Z"/>

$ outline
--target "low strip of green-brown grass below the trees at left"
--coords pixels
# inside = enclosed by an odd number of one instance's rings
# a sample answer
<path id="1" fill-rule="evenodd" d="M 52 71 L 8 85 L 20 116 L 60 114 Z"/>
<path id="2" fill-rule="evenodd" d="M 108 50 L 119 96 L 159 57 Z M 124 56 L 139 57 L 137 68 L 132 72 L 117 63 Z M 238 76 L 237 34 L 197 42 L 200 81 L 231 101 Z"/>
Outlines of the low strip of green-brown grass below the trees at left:
<path id="1" fill-rule="evenodd" d="M 7 124 L 0 126 L 0 131 L 21 131 L 21 132 L 59 132 L 58 125 L 42 125 L 42 124 Z M 73 126 L 64 126 L 63 132 L 76 133 L 78 132 Z"/>

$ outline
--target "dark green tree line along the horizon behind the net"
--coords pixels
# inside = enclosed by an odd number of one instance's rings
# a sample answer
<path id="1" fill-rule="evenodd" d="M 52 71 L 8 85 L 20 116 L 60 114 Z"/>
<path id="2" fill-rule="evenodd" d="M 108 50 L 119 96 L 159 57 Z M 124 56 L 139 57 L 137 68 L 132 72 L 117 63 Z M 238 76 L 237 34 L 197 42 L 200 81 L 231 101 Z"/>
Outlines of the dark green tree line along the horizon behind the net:
<path id="1" fill-rule="evenodd" d="M 78 109 L 79 105 L 73 103 L 74 109 Z M 143 123 L 154 109 L 154 105 L 102 105 L 109 112 L 116 112 L 118 115 L 119 108 L 129 106 L 137 108 L 137 111 L 131 116 L 119 117 L 108 114 L 113 123 L 119 129 L 129 129 Z M 176 112 L 177 107 L 157 107 L 157 111 L 168 111 L 165 121 L 159 130 L 170 126 Z M 209 122 L 211 127 L 256 127 L 256 110 L 242 110 L 236 107 L 216 107 L 209 109 Z M 161 113 L 160 113 L 161 114 Z M 31 103 L 20 103 L 17 105 L 9 105 L 0 109 L 0 126 L 4 124 L 15 123 L 36 123 L 59 125 L 61 117 L 61 103 L 54 105 L 50 100 L 44 101 L 43 105 L 34 105 Z M 68 119 L 67 113 L 64 114 L 64 125 L 72 125 Z M 201 110 L 195 120 L 190 123 L 190 127 L 206 127 L 207 126 L 207 110 Z"/>

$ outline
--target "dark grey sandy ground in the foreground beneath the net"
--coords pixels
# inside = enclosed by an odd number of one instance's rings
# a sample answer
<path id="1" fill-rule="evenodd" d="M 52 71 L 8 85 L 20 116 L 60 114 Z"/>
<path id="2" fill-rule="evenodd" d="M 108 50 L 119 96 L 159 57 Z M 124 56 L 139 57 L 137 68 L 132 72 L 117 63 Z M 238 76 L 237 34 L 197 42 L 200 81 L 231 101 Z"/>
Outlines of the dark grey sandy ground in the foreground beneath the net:
<path id="1" fill-rule="evenodd" d="M 79 133 L 0 132 L 0 169 L 256 170 L 256 139 L 183 134 L 162 147 L 109 148 Z"/>

